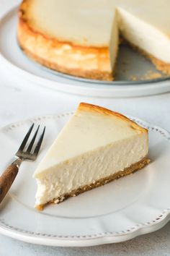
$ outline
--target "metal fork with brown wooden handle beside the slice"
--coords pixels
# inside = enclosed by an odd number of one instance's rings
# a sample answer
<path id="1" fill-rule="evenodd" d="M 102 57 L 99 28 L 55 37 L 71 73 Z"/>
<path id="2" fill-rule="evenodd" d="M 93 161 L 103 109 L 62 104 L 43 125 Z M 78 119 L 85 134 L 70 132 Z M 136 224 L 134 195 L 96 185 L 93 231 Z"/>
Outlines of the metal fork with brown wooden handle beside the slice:
<path id="1" fill-rule="evenodd" d="M 15 161 L 3 172 L 3 174 L 0 176 L 0 203 L 6 196 L 7 192 L 9 191 L 10 187 L 12 187 L 12 183 L 14 182 L 14 179 L 16 178 L 19 166 L 21 165 L 22 161 L 35 161 L 37 158 L 37 155 L 40 151 L 40 147 L 42 144 L 42 140 L 45 134 L 45 127 L 43 129 L 42 134 L 40 135 L 39 140 L 37 141 L 37 144 L 35 145 L 35 149 L 32 152 L 32 148 L 35 144 L 35 139 L 37 137 L 37 132 L 40 128 L 40 125 L 37 127 L 37 130 L 32 137 L 32 140 L 30 144 L 28 145 L 27 149 L 27 141 L 31 135 L 32 129 L 34 127 L 34 124 L 30 127 L 30 129 L 27 132 L 27 135 L 25 135 L 24 140 L 22 141 L 22 144 L 20 145 L 17 153 L 15 154 Z"/>

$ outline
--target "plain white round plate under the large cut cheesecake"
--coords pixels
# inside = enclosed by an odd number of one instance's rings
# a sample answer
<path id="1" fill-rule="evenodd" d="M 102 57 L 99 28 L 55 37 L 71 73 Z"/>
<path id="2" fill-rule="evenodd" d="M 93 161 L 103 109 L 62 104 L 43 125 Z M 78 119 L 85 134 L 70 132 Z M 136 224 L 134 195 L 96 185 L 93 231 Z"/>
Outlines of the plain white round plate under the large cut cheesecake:
<path id="1" fill-rule="evenodd" d="M 128 46 L 122 46 L 120 51 L 115 82 L 73 77 L 52 71 L 27 59 L 17 44 L 17 7 L 14 7 L 14 4 L 13 9 L 11 4 L 7 12 L 1 15 L 0 64 L 23 80 L 28 80 L 41 88 L 97 97 L 135 97 L 170 91 L 169 77 L 164 74 L 154 80 L 147 80 L 147 76 L 145 78 L 147 71 L 151 74 L 159 72 L 151 61 Z M 130 77 L 135 77 L 136 81 L 130 81 Z"/>

